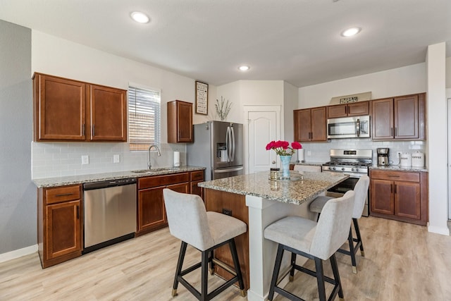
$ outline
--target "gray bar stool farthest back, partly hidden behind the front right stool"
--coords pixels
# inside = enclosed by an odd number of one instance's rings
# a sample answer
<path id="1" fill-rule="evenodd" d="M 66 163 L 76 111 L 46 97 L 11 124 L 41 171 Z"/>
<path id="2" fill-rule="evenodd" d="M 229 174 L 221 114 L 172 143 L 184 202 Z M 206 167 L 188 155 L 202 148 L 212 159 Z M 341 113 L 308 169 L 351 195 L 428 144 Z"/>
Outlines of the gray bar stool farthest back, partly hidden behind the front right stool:
<path id="1" fill-rule="evenodd" d="M 362 257 L 365 257 L 364 252 L 364 245 L 362 242 L 362 236 L 360 235 L 360 229 L 359 229 L 359 219 L 362 217 L 362 212 L 364 211 L 365 206 L 365 199 L 368 195 L 368 187 L 369 187 L 369 176 L 362 176 L 357 181 L 357 184 L 354 186 L 354 192 L 355 192 L 355 202 L 354 202 L 354 209 L 352 211 L 352 223 L 354 223 L 354 229 L 357 238 L 354 238 L 352 235 L 352 225 L 350 227 L 350 234 L 347 238 L 348 243 L 350 245 L 350 250 L 345 249 L 339 249 L 338 252 L 350 255 L 351 262 L 352 262 L 352 272 L 354 274 L 357 274 L 357 261 L 355 259 L 355 254 L 357 253 L 357 250 L 360 249 L 360 254 L 362 254 Z M 310 211 L 317 212 L 321 214 L 321 211 L 323 210 L 324 204 L 328 202 L 329 199 L 333 199 L 333 197 L 316 197 L 316 199 L 313 200 L 313 202 L 310 203 Z M 354 242 L 357 242 L 354 245 Z"/>

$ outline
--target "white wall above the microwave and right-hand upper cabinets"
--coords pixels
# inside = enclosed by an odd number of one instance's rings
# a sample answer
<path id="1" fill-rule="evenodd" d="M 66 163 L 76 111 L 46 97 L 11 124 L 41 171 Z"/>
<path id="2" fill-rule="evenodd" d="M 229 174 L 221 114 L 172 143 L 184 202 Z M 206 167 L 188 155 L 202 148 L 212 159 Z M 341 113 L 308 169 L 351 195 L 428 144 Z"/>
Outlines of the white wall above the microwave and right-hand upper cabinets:
<path id="1" fill-rule="evenodd" d="M 298 109 L 328 105 L 332 97 L 371 92 L 372 99 L 426 92 L 426 66 L 418 63 L 299 88 Z"/>

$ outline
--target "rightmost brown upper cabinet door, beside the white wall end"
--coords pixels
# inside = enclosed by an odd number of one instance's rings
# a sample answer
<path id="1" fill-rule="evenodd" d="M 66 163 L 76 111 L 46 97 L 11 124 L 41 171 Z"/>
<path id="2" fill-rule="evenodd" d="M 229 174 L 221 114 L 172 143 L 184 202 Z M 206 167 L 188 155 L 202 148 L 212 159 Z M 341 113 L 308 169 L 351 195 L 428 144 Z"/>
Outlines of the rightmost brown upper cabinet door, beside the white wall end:
<path id="1" fill-rule="evenodd" d="M 395 139 L 419 138 L 418 95 L 395 97 Z"/>

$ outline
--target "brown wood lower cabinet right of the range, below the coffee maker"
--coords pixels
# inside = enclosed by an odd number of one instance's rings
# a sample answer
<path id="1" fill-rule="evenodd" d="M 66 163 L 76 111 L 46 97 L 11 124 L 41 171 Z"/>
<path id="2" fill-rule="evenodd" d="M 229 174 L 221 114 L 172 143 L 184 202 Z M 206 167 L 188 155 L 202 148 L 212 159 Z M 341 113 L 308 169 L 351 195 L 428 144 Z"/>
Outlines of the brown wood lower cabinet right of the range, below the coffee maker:
<path id="1" fill-rule="evenodd" d="M 426 226 L 428 175 L 371 170 L 371 215 Z"/>

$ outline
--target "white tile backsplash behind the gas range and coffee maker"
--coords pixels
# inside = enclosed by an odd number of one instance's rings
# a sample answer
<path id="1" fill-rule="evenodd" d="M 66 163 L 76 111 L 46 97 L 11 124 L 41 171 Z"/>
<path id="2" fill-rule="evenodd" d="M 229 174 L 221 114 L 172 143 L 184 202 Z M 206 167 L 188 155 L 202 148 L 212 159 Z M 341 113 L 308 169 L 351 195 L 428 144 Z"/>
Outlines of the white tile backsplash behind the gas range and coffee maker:
<path id="1" fill-rule="evenodd" d="M 399 164 L 396 157 L 397 152 L 425 152 L 425 141 L 373 141 L 371 138 L 349 138 L 349 139 L 332 139 L 330 142 L 304 142 L 304 161 L 310 162 L 326 162 L 329 161 L 329 149 L 372 149 L 373 162 L 377 162 L 378 147 L 388 147 L 390 164 Z M 427 156 L 427 154 L 425 154 Z M 294 158 L 292 160 L 297 160 Z"/>

